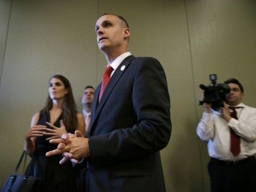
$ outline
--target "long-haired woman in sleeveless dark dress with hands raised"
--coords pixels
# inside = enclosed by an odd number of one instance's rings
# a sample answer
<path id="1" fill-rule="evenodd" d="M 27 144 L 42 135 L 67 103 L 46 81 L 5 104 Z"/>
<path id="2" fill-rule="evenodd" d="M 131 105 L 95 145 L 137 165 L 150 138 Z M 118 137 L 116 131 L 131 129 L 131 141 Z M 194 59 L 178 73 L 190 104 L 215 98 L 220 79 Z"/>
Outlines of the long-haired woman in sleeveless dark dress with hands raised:
<path id="1" fill-rule="evenodd" d="M 59 128 L 58 128 L 59 127 Z M 71 162 L 60 166 L 62 155 L 46 157 L 45 153 L 57 144 L 49 143 L 63 133 L 84 133 L 84 118 L 77 112 L 71 85 L 59 74 L 49 80 L 49 95 L 45 107 L 32 117 L 26 133 L 24 150 L 32 157 L 27 175 L 41 178 L 41 191 L 76 191 L 75 171 Z"/>

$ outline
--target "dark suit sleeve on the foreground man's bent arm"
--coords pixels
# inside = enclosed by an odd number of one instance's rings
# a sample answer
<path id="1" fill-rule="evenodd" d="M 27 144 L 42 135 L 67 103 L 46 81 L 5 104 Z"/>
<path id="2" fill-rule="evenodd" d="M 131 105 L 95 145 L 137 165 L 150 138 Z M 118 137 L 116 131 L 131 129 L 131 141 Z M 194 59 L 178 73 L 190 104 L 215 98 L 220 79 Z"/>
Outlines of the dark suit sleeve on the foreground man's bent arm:
<path id="1" fill-rule="evenodd" d="M 134 75 L 131 97 L 136 123 L 132 127 L 117 127 L 110 133 L 90 137 L 91 162 L 128 161 L 151 155 L 168 144 L 171 136 L 170 101 L 165 72 L 158 60 L 141 59 Z"/>

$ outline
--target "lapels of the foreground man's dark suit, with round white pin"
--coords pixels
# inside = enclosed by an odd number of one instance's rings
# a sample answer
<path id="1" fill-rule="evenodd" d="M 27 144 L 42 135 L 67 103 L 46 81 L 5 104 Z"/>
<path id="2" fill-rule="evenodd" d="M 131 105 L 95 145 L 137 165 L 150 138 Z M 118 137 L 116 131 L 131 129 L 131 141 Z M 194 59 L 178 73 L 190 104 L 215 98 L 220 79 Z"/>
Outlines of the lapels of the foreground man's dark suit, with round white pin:
<path id="1" fill-rule="evenodd" d="M 102 98 L 101 98 L 100 102 L 98 102 L 99 91 L 101 90 L 101 84 L 99 84 L 97 90 L 94 93 L 94 98 L 93 98 L 93 105 L 92 105 L 93 115 L 91 116 L 91 127 L 93 127 L 94 121 L 98 118 L 98 115 L 101 112 L 102 107 L 104 107 L 105 102 L 107 102 L 107 99 L 110 96 L 110 93 L 112 93 L 113 88 L 115 88 L 115 85 L 117 84 L 118 80 L 124 74 L 124 72 L 126 71 L 127 66 L 130 65 L 130 62 L 134 58 L 135 57 L 133 55 L 130 55 L 129 57 L 126 57 L 126 59 L 124 59 L 123 62 L 120 63 L 118 68 L 116 68 L 115 73 L 113 74 L 113 76 L 111 77 L 110 81 L 107 84 L 107 87 L 105 88 L 105 91 L 102 95 Z"/>

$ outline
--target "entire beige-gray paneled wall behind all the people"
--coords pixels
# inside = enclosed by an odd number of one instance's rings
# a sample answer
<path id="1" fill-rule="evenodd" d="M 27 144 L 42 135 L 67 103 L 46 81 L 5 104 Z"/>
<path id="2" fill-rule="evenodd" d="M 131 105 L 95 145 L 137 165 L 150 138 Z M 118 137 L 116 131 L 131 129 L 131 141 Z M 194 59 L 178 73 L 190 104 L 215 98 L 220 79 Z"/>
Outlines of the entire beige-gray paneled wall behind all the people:
<path id="1" fill-rule="evenodd" d="M 0 0 L 0 185 L 12 173 L 30 119 L 48 94 L 52 74 L 73 85 L 80 107 L 85 85 L 98 85 L 107 65 L 94 24 L 102 13 L 129 22 L 130 51 L 162 63 L 171 96 L 172 136 L 163 149 L 167 191 L 210 191 L 207 148 L 196 136 L 208 84 L 241 80 L 244 103 L 256 107 L 254 0 Z"/>

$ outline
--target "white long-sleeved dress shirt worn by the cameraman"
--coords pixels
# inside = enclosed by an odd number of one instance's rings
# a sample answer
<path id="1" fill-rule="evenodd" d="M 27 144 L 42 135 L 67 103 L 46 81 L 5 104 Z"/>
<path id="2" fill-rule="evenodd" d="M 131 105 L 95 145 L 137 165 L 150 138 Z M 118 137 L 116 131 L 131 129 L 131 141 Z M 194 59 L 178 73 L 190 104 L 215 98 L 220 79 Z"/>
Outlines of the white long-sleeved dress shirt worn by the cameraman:
<path id="1" fill-rule="evenodd" d="M 196 132 L 201 140 L 208 142 L 210 157 L 235 161 L 256 154 L 256 108 L 243 103 L 236 107 L 241 107 L 236 108 L 238 119 L 232 118 L 229 123 L 214 110 L 203 113 Z M 240 135 L 241 152 L 236 157 L 230 152 L 230 128 Z"/>

